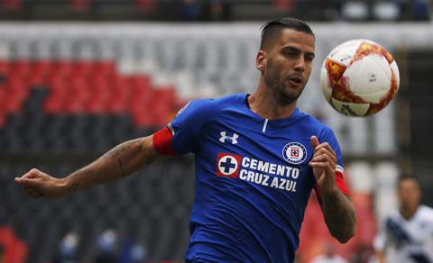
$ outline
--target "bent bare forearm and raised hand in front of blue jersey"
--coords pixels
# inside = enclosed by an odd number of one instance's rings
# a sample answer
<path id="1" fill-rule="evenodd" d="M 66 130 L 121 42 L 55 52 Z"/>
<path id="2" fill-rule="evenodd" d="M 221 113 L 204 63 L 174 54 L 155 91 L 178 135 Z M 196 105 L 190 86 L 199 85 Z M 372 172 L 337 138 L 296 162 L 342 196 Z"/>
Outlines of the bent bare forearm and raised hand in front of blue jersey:
<path id="1" fill-rule="evenodd" d="M 311 137 L 314 156 L 309 165 L 320 187 L 322 211 L 331 235 L 345 243 L 355 235 L 356 214 L 351 200 L 336 186 L 336 153 L 330 145 Z"/>

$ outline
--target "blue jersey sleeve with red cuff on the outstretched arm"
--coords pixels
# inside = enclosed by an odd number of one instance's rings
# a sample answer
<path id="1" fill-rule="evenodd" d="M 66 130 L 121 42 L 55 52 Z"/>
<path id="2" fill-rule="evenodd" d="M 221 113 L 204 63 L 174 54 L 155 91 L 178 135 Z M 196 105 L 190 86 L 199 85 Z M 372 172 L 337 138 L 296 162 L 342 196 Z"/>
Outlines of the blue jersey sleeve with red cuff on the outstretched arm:
<path id="1" fill-rule="evenodd" d="M 209 120 L 212 110 L 210 99 L 190 101 L 174 119 L 153 134 L 153 147 L 161 155 L 185 154 L 198 150 L 198 140 L 203 125 Z"/>

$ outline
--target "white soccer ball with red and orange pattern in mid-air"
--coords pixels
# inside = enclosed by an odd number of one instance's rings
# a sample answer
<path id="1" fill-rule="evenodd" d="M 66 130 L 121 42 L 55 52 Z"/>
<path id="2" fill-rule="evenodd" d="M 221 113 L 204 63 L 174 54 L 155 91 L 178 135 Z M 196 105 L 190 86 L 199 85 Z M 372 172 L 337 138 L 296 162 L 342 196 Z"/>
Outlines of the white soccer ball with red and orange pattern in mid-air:
<path id="1" fill-rule="evenodd" d="M 323 62 L 320 86 L 337 112 L 367 116 L 388 105 L 397 94 L 400 74 L 388 50 L 368 40 L 346 41 Z"/>

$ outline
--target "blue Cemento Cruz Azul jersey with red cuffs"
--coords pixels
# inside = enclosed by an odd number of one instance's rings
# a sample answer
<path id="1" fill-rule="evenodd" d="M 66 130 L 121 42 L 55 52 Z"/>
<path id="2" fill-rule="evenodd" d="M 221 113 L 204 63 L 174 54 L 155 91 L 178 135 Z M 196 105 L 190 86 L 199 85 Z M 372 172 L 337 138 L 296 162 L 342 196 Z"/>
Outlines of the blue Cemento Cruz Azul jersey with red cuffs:
<path id="1" fill-rule="evenodd" d="M 170 132 L 168 132 L 170 130 Z M 160 152 L 195 154 L 195 201 L 187 262 L 293 262 L 311 190 L 310 137 L 342 157 L 334 133 L 298 108 L 267 120 L 247 95 L 189 102 L 154 135 Z M 337 173 L 338 174 L 338 173 Z"/>

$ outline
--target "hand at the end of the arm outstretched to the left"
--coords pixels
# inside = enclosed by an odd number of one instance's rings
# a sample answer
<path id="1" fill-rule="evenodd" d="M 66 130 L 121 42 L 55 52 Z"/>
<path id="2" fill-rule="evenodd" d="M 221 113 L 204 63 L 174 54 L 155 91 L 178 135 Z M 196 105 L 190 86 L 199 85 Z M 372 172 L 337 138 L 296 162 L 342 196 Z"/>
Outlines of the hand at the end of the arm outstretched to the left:
<path id="1" fill-rule="evenodd" d="M 25 193 L 32 198 L 59 198 L 68 194 L 64 178 L 51 177 L 36 168 L 22 177 L 15 177 L 14 181 L 23 186 Z"/>

